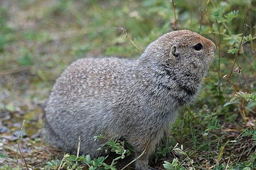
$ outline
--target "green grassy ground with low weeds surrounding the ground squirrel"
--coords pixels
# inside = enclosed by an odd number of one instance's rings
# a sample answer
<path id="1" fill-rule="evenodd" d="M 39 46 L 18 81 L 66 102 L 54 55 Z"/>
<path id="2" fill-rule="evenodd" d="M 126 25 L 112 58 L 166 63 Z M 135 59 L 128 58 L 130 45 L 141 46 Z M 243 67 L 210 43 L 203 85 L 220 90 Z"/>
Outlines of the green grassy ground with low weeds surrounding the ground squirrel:
<path id="1" fill-rule="evenodd" d="M 114 164 L 105 157 L 63 156 L 33 137 L 43 126 L 40 103 L 75 59 L 136 58 L 147 44 L 177 27 L 211 38 L 216 59 L 197 101 L 180 111 L 169 145 L 157 148 L 152 166 L 255 169 L 255 6 L 255 0 L 182 0 L 174 6 L 159 0 L 1 1 L 0 129 L 2 123 L 8 130 L 0 133 L 0 169 L 58 169 L 60 164 L 63 169 L 100 169 L 105 162 L 109 169 L 123 167 L 117 158 L 130 156 L 122 154 L 123 144 L 117 141 L 110 141 L 120 150 Z M 21 128 L 28 137 L 11 141 Z"/>

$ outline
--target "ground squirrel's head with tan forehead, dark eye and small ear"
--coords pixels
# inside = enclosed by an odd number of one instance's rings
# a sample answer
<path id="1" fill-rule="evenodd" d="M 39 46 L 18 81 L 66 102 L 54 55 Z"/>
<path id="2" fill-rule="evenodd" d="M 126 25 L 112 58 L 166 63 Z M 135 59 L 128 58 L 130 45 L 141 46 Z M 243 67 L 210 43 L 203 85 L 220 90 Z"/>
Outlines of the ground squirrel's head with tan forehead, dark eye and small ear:
<path id="1" fill-rule="evenodd" d="M 153 41 L 141 59 L 161 77 L 165 87 L 196 93 L 216 49 L 213 41 L 189 30 L 173 31 Z"/>

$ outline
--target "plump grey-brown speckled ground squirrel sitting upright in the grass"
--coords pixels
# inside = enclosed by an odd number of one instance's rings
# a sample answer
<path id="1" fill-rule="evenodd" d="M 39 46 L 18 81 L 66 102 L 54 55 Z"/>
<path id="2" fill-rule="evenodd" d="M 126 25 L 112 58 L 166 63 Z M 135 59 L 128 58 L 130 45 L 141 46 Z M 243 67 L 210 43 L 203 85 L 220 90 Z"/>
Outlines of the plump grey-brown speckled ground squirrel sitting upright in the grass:
<path id="1" fill-rule="evenodd" d="M 149 156 L 169 130 L 178 108 L 193 100 L 214 58 L 216 46 L 196 32 L 168 32 L 135 60 L 83 58 L 72 63 L 45 108 L 45 138 L 66 151 L 97 157 L 102 133 L 145 149 L 135 169 L 150 169 Z"/>

